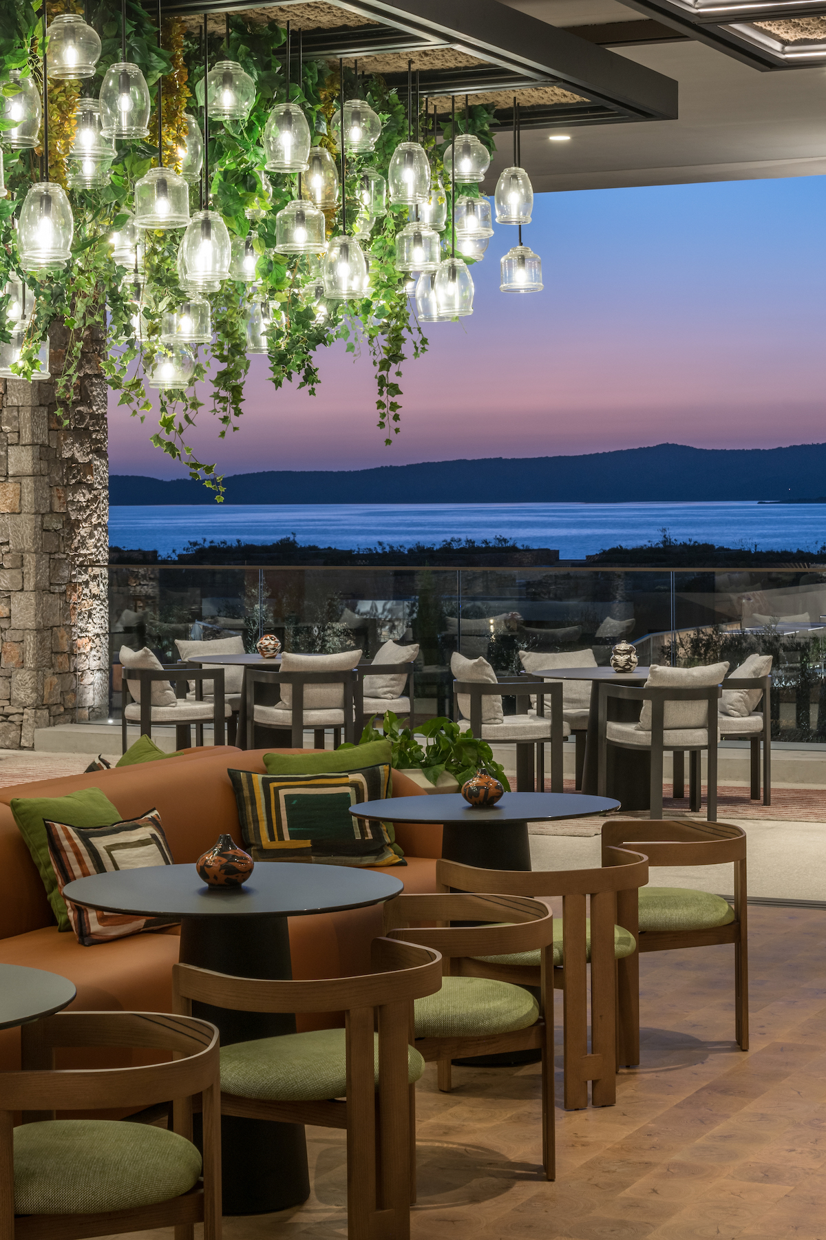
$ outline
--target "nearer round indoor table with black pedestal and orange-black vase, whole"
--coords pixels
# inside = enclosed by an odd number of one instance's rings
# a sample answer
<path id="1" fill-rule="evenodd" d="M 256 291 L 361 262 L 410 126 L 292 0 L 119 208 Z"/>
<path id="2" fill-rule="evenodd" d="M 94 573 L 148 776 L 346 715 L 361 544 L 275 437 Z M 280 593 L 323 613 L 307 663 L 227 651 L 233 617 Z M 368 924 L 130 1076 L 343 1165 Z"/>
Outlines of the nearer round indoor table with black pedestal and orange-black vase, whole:
<path id="1" fill-rule="evenodd" d="M 241 977 L 293 976 L 288 918 L 383 904 L 403 889 L 389 874 L 344 866 L 260 862 L 241 888 L 208 888 L 195 866 L 150 866 L 67 883 L 74 904 L 181 920 L 184 963 Z M 221 1044 L 295 1033 L 295 1017 L 193 1003 Z M 222 1116 L 224 1214 L 269 1214 L 310 1195 L 304 1126 Z"/>

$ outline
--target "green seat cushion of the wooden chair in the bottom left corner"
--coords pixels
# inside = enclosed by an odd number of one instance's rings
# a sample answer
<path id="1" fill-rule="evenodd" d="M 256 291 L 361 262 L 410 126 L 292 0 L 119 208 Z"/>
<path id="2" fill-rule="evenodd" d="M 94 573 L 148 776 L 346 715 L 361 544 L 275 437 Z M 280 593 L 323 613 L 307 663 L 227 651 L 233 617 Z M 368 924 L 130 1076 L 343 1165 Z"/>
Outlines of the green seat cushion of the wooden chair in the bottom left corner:
<path id="1" fill-rule="evenodd" d="M 201 1154 L 176 1132 L 123 1120 L 15 1128 L 15 1214 L 102 1214 L 189 1193 Z"/>

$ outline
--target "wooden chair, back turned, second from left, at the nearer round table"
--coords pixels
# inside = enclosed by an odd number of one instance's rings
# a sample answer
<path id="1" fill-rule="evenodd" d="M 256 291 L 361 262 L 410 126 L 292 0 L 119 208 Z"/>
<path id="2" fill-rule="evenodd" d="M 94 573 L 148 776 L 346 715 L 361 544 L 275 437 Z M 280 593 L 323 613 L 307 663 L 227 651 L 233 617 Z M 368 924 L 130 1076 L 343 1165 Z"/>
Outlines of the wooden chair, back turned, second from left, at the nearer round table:
<path id="1" fill-rule="evenodd" d="M 415 1200 L 413 1003 L 442 986 L 442 957 L 391 939 L 372 944 L 362 977 L 269 981 L 172 967 L 174 1006 L 244 1012 L 344 1012 L 344 1029 L 288 1033 L 221 1049 L 221 1112 L 347 1133 L 347 1235 L 407 1240 Z M 376 1032 L 373 1032 L 376 1029 Z"/>

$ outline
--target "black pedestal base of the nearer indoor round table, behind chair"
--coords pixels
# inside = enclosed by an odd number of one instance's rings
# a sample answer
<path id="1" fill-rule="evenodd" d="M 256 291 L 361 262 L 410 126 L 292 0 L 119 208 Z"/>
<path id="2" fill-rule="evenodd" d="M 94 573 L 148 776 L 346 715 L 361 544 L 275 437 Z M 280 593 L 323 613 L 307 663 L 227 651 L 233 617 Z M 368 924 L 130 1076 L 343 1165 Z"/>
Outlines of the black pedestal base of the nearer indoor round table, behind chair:
<path id="1" fill-rule="evenodd" d="M 286 918 L 185 918 L 180 959 L 218 973 L 289 978 Z M 218 1027 L 222 1047 L 295 1033 L 291 1013 L 232 1012 L 193 1003 L 192 1014 Z M 303 1125 L 224 1115 L 221 1145 L 224 1214 L 270 1214 L 306 1202 L 310 1177 Z"/>

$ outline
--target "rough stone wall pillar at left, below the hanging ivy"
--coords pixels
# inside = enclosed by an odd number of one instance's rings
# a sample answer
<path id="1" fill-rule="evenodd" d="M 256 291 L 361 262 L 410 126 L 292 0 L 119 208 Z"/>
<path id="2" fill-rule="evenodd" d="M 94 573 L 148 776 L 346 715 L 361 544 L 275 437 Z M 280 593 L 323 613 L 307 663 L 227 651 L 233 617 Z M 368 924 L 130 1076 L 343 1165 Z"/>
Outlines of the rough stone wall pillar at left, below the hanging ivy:
<path id="1" fill-rule="evenodd" d="M 108 713 L 105 381 L 91 340 L 61 425 L 53 382 L 2 381 L 0 408 L 0 748 L 35 728 Z M 64 329 L 52 332 L 52 373 Z"/>

